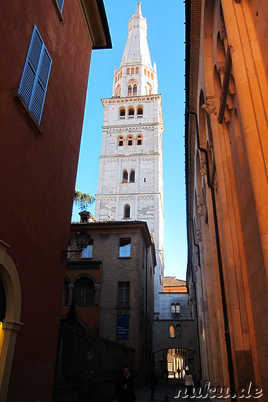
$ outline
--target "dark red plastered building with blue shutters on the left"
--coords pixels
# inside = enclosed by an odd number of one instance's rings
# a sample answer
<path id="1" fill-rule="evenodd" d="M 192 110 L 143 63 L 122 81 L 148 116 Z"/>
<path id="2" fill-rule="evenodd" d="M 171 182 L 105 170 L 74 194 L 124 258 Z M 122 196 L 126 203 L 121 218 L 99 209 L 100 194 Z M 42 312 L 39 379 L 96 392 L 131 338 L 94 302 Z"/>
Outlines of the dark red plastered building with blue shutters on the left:
<path id="1" fill-rule="evenodd" d="M 52 399 L 69 223 L 102 0 L 1 1 L 0 401 Z"/>

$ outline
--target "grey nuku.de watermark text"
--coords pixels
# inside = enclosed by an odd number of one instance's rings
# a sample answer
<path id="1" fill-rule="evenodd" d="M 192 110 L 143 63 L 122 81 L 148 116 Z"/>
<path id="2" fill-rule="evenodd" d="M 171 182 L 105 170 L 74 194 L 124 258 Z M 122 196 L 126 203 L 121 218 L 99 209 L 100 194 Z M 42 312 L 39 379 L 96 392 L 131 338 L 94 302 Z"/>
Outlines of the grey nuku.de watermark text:
<path id="1" fill-rule="evenodd" d="M 229 398 L 230 400 L 234 398 L 260 398 L 263 396 L 263 389 L 258 386 L 252 386 L 252 381 L 246 381 L 245 386 L 237 388 L 235 394 L 231 394 L 230 388 L 224 387 L 213 387 L 208 382 L 208 386 L 205 390 L 202 387 L 193 387 L 192 392 L 189 395 L 187 388 L 181 388 L 177 390 L 177 394 L 174 395 L 175 398 L 192 398 L 192 399 L 205 399 L 205 398 Z"/>

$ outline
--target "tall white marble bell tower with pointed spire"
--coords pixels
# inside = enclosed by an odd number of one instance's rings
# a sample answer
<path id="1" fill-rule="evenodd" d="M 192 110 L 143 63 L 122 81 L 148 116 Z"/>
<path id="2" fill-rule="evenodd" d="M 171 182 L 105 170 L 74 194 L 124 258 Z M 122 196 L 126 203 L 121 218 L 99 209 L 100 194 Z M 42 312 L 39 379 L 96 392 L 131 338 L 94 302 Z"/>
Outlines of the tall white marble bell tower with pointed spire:
<path id="1" fill-rule="evenodd" d="M 120 67 L 113 75 L 113 96 L 102 99 L 104 123 L 96 194 L 96 221 L 146 221 L 155 241 L 155 314 L 163 291 L 164 131 L 157 69 L 150 60 L 147 23 L 141 4 L 129 20 Z"/>

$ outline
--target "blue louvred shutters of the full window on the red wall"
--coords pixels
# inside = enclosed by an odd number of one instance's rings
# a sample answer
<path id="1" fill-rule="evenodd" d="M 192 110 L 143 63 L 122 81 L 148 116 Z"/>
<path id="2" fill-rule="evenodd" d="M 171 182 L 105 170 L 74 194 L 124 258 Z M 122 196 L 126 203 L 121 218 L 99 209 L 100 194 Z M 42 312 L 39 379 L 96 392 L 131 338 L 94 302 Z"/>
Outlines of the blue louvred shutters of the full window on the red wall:
<path id="1" fill-rule="evenodd" d="M 19 85 L 19 95 L 38 124 L 41 122 L 51 65 L 52 59 L 34 25 L 34 32 Z"/>

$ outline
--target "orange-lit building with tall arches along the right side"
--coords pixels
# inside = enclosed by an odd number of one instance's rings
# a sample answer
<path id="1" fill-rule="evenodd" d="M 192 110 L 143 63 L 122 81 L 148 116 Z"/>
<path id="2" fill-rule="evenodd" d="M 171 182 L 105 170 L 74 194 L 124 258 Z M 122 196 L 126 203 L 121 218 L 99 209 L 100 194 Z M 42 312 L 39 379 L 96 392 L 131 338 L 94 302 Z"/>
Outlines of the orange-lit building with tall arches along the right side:
<path id="1" fill-rule="evenodd" d="M 186 1 L 187 281 L 203 378 L 268 398 L 268 3 Z M 262 396 L 261 396 L 262 395 Z"/>

